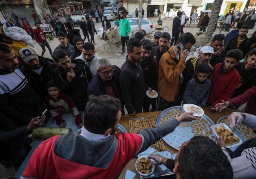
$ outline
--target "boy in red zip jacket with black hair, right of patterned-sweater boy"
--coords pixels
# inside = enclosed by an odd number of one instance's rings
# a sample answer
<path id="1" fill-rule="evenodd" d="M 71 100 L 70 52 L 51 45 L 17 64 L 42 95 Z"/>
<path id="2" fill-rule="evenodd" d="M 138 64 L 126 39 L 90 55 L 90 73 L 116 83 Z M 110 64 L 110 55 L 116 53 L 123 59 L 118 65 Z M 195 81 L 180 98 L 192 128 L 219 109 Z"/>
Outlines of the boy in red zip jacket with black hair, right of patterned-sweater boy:
<path id="1" fill-rule="evenodd" d="M 224 63 L 217 63 L 213 68 L 208 104 L 216 111 L 215 105 L 232 97 L 239 84 L 239 73 L 234 68 L 242 59 L 243 52 L 238 49 L 226 54 Z"/>

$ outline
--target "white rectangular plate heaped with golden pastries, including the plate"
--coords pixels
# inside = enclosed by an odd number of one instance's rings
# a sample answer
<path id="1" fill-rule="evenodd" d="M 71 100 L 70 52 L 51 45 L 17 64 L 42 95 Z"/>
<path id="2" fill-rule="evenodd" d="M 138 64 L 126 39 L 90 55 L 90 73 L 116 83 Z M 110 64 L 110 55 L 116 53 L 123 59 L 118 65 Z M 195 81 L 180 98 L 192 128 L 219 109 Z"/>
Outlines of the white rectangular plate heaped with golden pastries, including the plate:
<path id="1" fill-rule="evenodd" d="M 242 140 L 225 123 L 212 125 L 211 129 L 217 138 L 223 138 L 226 148 L 242 144 Z"/>

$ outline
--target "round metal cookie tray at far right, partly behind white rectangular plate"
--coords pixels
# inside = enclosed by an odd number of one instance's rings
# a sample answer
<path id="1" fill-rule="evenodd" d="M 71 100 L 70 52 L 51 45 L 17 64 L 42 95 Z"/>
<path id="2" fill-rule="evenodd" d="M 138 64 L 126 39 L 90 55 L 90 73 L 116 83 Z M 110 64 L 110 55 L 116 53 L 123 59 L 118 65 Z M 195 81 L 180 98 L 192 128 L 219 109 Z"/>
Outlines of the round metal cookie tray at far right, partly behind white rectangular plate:
<path id="1" fill-rule="evenodd" d="M 226 120 L 227 118 L 228 118 L 228 116 L 223 116 L 222 118 L 219 118 L 219 120 L 217 121 L 217 124 L 224 123 L 224 124 L 228 125 L 228 122 Z M 228 125 L 228 127 L 230 127 L 230 126 Z M 234 133 L 236 133 L 236 135 L 243 142 L 256 137 L 256 134 L 253 132 L 253 130 L 250 127 L 247 127 L 246 125 L 243 125 L 243 124 L 240 124 L 239 126 L 233 127 L 231 129 L 232 129 L 232 131 L 234 131 Z"/>

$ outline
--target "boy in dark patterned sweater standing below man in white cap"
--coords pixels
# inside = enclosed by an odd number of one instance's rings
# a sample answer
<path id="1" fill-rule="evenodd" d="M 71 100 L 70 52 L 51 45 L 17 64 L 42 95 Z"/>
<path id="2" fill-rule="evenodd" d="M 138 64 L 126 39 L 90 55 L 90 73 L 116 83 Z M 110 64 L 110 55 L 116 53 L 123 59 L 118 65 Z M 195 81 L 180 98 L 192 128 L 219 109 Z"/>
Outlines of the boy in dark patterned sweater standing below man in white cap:
<path id="1" fill-rule="evenodd" d="M 183 104 L 195 104 L 204 107 L 209 98 L 211 81 L 207 79 L 210 75 L 210 67 L 205 63 L 197 66 L 196 76 L 186 86 L 183 96 Z"/>

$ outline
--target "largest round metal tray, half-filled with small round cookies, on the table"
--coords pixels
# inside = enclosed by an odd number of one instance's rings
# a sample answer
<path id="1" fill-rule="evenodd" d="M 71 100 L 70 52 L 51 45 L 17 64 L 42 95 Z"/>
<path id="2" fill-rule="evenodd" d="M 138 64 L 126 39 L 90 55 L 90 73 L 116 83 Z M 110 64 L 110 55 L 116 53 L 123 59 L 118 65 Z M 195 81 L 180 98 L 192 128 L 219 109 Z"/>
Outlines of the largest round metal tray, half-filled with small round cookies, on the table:
<path id="1" fill-rule="evenodd" d="M 158 115 L 156 125 L 176 119 L 184 112 L 182 106 L 165 109 Z M 172 133 L 162 139 L 171 147 L 180 150 L 182 144 L 194 136 L 208 136 L 212 140 L 215 140 L 211 125 L 214 125 L 213 121 L 204 114 L 203 116 L 198 116 L 196 120 L 191 122 L 181 122 Z"/>

